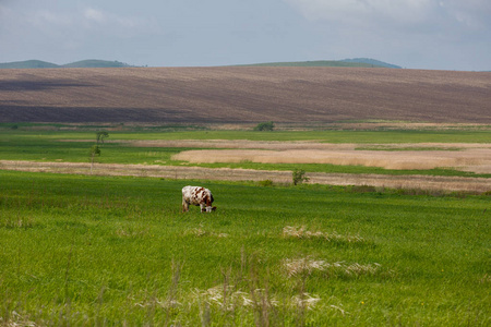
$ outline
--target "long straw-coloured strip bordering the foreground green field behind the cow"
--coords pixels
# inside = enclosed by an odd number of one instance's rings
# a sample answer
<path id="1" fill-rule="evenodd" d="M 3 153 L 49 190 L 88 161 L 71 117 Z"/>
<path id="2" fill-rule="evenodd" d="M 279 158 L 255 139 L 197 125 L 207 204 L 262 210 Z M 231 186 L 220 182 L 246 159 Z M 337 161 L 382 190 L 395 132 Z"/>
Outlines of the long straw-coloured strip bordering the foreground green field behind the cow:
<path id="1" fill-rule="evenodd" d="M 0 169 L 33 172 L 89 174 L 91 164 L 85 162 L 36 162 L 0 160 Z M 177 166 L 97 164 L 96 175 L 135 175 L 181 180 L 263 181 L 291 183 L 291 172 L 253 169 L 201 168 Z M 491 181 L 484 178 L 385 175 L 355 173 L 307 174 L 309 183 L 330 185 L 371 185 L 391 189 L 420 189 L 442 191 L 489 192 Z"/>

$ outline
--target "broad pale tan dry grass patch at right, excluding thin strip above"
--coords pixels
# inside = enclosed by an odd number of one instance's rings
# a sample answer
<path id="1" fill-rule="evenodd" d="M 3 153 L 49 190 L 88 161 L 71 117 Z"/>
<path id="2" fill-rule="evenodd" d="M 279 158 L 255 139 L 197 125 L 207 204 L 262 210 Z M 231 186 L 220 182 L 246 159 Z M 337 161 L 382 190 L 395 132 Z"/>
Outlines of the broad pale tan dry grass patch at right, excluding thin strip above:
<path id="1" fill-rule="evenodd" d="M 491 166 L 491 147 L 465 150 L 355 150 L 355 149 L 207 149 L 188 150 L 172 156 L 173 160 L 191 164 L 328 164 L 367 166 L 395 170 L 434 168 L 482 168 Z M 491 170 L 486 171 L 491 173 Z"/>

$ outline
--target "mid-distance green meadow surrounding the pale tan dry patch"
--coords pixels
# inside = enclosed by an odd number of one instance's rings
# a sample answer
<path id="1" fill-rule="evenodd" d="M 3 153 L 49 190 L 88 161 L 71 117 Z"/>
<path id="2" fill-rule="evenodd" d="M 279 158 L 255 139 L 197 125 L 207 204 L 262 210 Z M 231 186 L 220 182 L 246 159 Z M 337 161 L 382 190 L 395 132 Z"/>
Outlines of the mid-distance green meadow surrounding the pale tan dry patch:
<path id="1" fill-rule="evenodd" d="M 440 131 L 275 131 L 258 133 L 253 131 L 169 131 L 169 132 L 110 132 L 103 146 L 98 162 L 101 164 L 143 164 L 165 166 L 196 166 L 208 168 L 244 168 L 261 170 L 303 169 L 308 172 L 340 172 L 340 173 L 381 173 L 381 174 L 428 174 L 428 175 L 459 175 L 483 177 L 489 173 L 475 173 L 447 167 L 433 169 L 384 169 L 361 165 L 331 165 L 331 164 L 263 164 L 241 160 L 241 162 L 184 162 L 173 159 L 175 155 L 206 147 L 166 147 L 141 146 L 134 142 L 155 141 L 259 141 L 259 142 L 319 142 L 330 144 L 360 144 L 366 146 L 381 146 L 383 144 L 419 144 L 419 143 L 475 143 L 490 144 L 489 130 L 440 130 Z M 94 131 L 29 131 L 0 129 L 0 159 L 2 160 L 35 160 L 58 162 L 87 162 L 91 146 L 95 143 Z M 206 146 L 206 145 L 205 145 Z M 364 147 L 360 146 L 360 149 Z M 420 148 L 429 153 L 434 148 Z M 458 152 L 458 148 L 452 148 Z"/>

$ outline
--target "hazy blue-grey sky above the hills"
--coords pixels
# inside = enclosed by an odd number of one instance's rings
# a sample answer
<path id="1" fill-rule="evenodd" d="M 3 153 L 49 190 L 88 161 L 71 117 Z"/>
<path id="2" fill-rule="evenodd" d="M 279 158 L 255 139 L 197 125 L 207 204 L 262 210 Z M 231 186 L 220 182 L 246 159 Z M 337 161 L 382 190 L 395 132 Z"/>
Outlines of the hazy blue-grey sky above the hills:
<path id="1" fill-rule="evenodd" d="M 491 0 L 0 0 L 0 62 L 491 71 Z"/>

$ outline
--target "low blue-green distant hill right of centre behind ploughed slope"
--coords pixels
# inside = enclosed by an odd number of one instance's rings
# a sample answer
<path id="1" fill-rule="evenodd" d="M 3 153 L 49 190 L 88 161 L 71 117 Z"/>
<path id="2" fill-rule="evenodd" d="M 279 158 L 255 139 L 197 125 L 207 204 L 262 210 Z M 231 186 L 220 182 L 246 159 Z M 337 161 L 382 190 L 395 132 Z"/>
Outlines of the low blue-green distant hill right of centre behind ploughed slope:
<path id="1" fill-rule="evenodd" d="M 369 58 L 355 58 L 344 60 L 316 60 L 316 61 L 291 61 L 291 62 L 264 62 L 253 64 L 240 64 L 240 66 L 355 66 L 355 68 L 394 68 L 395 64 Z"/>

